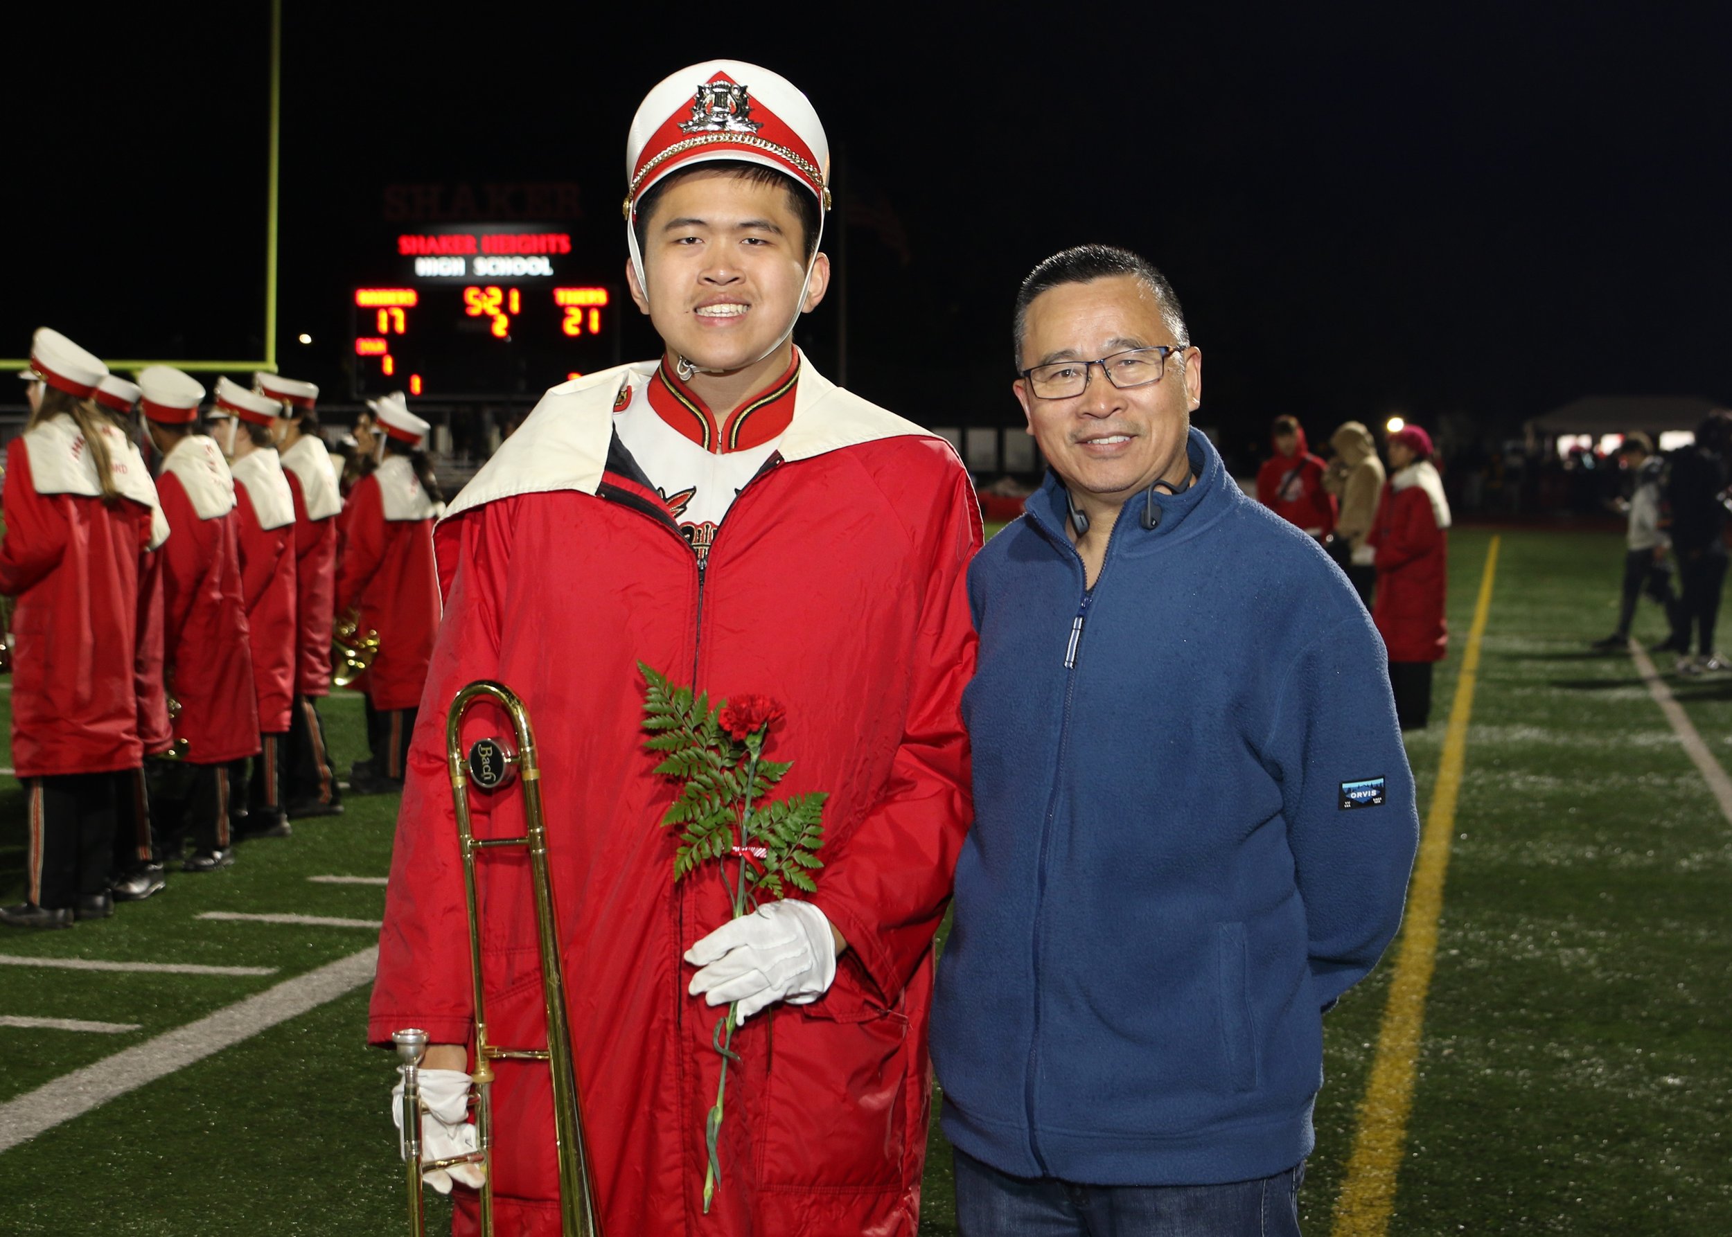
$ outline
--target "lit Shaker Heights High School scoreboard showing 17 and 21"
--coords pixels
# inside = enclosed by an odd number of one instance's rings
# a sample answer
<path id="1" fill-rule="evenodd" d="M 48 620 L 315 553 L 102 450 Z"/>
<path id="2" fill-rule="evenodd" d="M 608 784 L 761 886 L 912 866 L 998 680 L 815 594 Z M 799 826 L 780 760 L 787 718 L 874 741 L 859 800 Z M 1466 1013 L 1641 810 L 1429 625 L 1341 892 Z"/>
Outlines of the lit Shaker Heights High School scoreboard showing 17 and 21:
<path id="1" fill-rule="evenodd" d="M 350 300 L 353 393 L 533 397 L 620 362 L 622 291 L 568 232 L 475 223 L 397 237 L 397 279 Z"/>

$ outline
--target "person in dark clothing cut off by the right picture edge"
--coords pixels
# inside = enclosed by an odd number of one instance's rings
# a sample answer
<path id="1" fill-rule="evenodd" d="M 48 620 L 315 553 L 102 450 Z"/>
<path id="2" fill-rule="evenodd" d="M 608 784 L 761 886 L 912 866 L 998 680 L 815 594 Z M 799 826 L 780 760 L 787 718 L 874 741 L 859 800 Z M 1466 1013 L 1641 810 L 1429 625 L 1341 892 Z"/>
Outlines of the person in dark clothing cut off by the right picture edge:
<path id="1" fill-rule="evenodd" d="M 1671 504 L 1671 547 L 1678 554 L 1684 589 L 1684 650 L 1678 674 L 1729 669 L 1715 651 L 1720 589 L 1727 579 L 1725 489 L 1727 450 L 1732 447 L 1732 412 L 1715 411 L 1696 426 L 1696 444 L 1671 452 L 1666 501 Z M 1689 657 L 1690 631 L 1697 655 Z"/>

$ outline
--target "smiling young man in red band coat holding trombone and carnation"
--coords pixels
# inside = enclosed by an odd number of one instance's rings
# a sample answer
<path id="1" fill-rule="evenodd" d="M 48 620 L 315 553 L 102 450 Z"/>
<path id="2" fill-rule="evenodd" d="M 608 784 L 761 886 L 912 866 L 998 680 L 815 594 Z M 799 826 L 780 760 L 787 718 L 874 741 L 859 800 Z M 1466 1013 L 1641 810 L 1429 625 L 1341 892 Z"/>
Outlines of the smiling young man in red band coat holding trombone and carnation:
<path id="1" fill-rule="evenodd" d="M 466 683 L 504 683 L 535 716 L 606 1234 L 857 1237 L 918 1221 L 932 937 L 970 814 L 961 584 L 980 518 L 946 442 L 831 385 L 793 346 L 830 279 L 828 161 L 812 106 L 762 68 L 712 61 L 651 90 L 627 146 L 625 274 L 665 352 L 547 392 L 436 530 L 447 612 L 369 1038 L 424 1029 L 423 1086 L 469 1065 L 436 722 Z M 670 788 L 641 748 L 639 660 L 715 698 L 785 707 L 766 748 L 793 761 L 781 788 L 830 793 L 824 868 L 804 904 L 771 903 L 722 936 L 722 880 L 675 885 L 679 837 L 660 826 Z M 478 705 L 464 750 L 504 729 Z M 521 804 L 478 804 L 475 828 L 521 833 Z M 483 859 L 478 880 L 488 1038 L 539 1043 L 525 865 Z M 721 970 L 738 977 L 727 996 Z M 710 1007 L 731 996 L 762 1010 L 733 1038 L 743 1100 L 736 1119 L 729 1091 L 703 1214 L 722 1060 Z M 494 1071 L 499 1232 L 556 1234 L 547 1069 Z M 468 1190 L 457 1232 L 475 1232 Z"/>

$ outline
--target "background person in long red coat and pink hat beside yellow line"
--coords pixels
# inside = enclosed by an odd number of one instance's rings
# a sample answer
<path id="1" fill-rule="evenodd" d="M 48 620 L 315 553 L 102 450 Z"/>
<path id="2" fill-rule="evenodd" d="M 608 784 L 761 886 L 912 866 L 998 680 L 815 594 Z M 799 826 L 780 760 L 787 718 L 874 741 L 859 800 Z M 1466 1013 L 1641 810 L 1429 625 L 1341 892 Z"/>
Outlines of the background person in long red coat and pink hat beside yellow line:
<path id="1" fill-rule="evenodd" d="M 1410 424 L 1389 435 L 1389 480 L 1367 544 L 1377 547 L 1372 620 L 1389 650 L 1389 684 L 1401 729 L 1431 721 L 1431 667 L 1450 646 L 1450 502 L 1431 463 L 1431 435 Z"/>

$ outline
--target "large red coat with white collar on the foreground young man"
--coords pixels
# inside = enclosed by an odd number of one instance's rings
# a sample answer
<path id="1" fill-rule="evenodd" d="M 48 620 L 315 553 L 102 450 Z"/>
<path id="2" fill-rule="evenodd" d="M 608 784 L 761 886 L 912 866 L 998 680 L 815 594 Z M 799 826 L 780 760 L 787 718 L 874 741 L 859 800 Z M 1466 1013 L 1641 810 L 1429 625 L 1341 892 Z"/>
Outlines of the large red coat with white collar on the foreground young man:
<path id="1" fill-rule="evenodd" d="M 961 691 L 973 670 L 963 572 L 980 544 L 947 444 L 802 367 L 793 421 L 727 511 L 700 577 L 665 502 L 610 461 L 630 366 L 549 392 L 438 528 L 445 624 L 409 754 L 369 1038 L 473 1036 L 445 712 L 499 679 L 537 729 L 568 1012 L 603 1227 L 613 1234 L 913 1234 L 928 1119 L 932 937 L 970 819 Z M 625 471 L 620 471 L 620 470 Z M 734 1036 L 722 1182 L 701 1214 L 721 1010 L 681 953 L 729 915 L 714 865 L 675 884 L 660 826 L 677 787 L 643 750 L 643 660 L 712 698 L 786 707 L 778 793 L 830 792 L 811 897 L 849 951 L 811 1005 Z M 462 731 L 509 733 L 478 705 Z M 521 797 L 476 804 L 523 830 Z M 480 870 L 494 1043 L 546 1027 L 527 868 Z M 774 1045 L 774 1050 L 771 1048 Z M 559 1230 L 546 1067 L 499 1062 L 504 1232 Z M 475 1195 L 457 1232 L 475 1232 Z"/>

